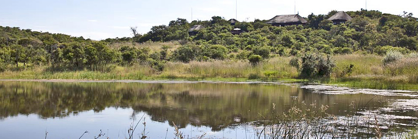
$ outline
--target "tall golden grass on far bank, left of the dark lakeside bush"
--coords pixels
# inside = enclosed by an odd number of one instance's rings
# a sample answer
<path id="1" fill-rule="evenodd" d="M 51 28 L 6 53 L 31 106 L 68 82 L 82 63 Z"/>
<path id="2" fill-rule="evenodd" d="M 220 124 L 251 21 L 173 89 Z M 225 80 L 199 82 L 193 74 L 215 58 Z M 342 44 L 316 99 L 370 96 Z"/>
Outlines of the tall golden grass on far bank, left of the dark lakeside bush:
<path id="1" fill-rule="evenodd" d="M 243 60 L 168 62 L 162 77 L 180 78 L 296 78 L 298 71 L 289 65 L 290 57 L 275 57 L 253 66 Z"/>

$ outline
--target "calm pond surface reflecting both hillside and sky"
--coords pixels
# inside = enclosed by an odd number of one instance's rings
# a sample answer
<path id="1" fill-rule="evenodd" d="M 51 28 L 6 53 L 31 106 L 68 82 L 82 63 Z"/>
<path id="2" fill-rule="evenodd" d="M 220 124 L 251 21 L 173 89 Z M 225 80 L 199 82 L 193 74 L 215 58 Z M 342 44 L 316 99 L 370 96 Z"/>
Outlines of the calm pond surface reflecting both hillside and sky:
<path id="1" fill-rule="evenodd" d="M 172 139 L 173 123 L 186 138 L 254 139 L 254 123 L 261 120 L 261 113 L 272 111 L 272 104 L 274 111 L 283 113 L 302 101 L 329 106 L 326 112 L 335 120 L 324 121 L 330 123 L 350 115 L 375 115 L 389 135 L 391 129 L 418 125 L 417 98 L 413 91 L 303 84 L 3 81 L 0 138 L 44 139 L 48 132 L 48 139 L 78 139 L 88 131 L 82 139 L 94 139 L 100 132 L 110 139 L 125 139 L 130 125 L 144 117 L 135 139 L 142 133 L 151 139 Z"/>

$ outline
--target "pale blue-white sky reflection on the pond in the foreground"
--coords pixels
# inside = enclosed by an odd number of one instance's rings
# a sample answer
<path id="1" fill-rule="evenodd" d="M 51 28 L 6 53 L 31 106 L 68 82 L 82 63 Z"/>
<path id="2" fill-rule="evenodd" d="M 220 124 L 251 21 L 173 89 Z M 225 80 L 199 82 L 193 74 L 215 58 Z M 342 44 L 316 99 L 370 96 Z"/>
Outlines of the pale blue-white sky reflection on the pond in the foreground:
<path id="1" fill-rule="evenodd" d="M 94 139 L 93 137 L 97 136 L 100 130 L 102 130 L 106 134 L 104 137 L 125 139 L 125 137 L 128 137 L 127 130 L 132 123 L 132 112 L 132 109 L 111 107 L 101 112 L 85 111 L 80 112 L 78 115 L 70 115 L 64 118 L 39 119 L 36 114 L 30 114 L 29 116 L 18 115 L 0 121 L 0 135 L 2 139 L 28 139 L 28 137 L 43 139 L 45 130 L 47 130 L 48 139 L 78 139 L 87 130 L 89 133 L 86 133 L 82 139 Z M 141 118 L 143 114 L 144 112 L 137 113 L 137 119 Z M 152 121 L 147 114 L 144 117 L 146 120 L 146 133 L 150 139 L 164 139 L 166 134 L 167 139 L 174 138 L 174 127 L 170 126 L 167 121 Z M 138 139 L 138 134 L 143 132 L 144 125 L 142 123 L 141 121 L 135 130 L 136 139 Z M 205 137 L 212 138 L 225 137 L 235 139 L 236 135 L 239 139 L 245 138 L 243 127 L 229 128 L 219 132 L 210 130 L 210 128 L 205 126 L 196 127 L 191 125 L 180 129 L 186 137 L 198 137 L 206 133 Z M 250 134 L 253 133 L 247 131 L 248 137 L 251 136 Z"/>

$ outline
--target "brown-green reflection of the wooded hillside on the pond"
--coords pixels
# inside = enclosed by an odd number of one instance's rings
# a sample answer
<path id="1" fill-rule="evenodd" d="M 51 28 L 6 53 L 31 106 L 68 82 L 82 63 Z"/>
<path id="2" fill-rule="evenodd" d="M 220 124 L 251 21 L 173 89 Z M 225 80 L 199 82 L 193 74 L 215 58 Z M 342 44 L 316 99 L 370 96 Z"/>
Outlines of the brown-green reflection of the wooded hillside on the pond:
<path id="1" fill-rule="evenodd" d="M 328 111 L 332 114 L 346 114 L 339 110 L 346 110 L 351 101 L 358 100 L 358 95 L 321 95 L 284 85 L 221 83 L 1 82 L 0 92 L 2 118 L 32 113 L 41 118 L 65 117 L 79 111 L 125 107 L 145 111 L 154 121 L 175 122 L 179 127 L 205 125 L 212 130 L 254 121 L 259 112 L 270 110 L 272 103 L 276 111 L 287 111 L 294 96 L 319 106 L 337 102 Z M 367 100 L 373 96 L 362 97 Z M 373 102 L 386 99 L 378 97 Z M 384 105 L 372 103 L 370 108 Z"/>

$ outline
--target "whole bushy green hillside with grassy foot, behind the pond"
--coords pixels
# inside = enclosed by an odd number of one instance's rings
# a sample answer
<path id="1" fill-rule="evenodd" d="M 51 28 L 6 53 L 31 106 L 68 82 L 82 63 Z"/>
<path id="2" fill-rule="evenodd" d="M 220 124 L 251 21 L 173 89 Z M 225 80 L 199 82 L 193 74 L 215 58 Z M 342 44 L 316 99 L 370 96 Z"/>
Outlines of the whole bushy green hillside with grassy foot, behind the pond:
<path id="1" fill-rule="evenodd" d="M 286 27 L 265 20 L 232 26 L 217 16 L 177 19 L 146 34 L 100 41 L 0 27 L 0 79 L 310 80 L 417 88 L 418 21 L 412 13 L 348 11 L 351 21 L 333 25 L 325 19 L 335 12 Z M 190 36 L 193 25 L 205 28 Z M 233 35 L 233 28 L 245 32 Z"/>

